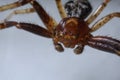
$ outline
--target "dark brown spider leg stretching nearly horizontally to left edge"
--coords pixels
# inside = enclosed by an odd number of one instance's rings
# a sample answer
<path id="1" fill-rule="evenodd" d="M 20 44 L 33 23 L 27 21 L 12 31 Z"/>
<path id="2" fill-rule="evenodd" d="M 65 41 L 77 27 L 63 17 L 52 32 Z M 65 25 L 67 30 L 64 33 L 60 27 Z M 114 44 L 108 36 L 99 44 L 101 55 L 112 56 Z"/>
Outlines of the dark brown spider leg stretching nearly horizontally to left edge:
<path id="1" fill-rule="evenodd" d="M 41 26 L 35 25 L 35 24 L 30 24 L 30 23 L 18 23 L 15 21 L 6 21 L 4 23 L 0 23 L 0 29 L 5 29 L 5 28 L 9 28 L 12 26 L 16 26 L 18 29 L 23 29 L 26 31 L 29 31 L 31 33 L 43 36 L 43 37 L 47 37 L 47 38 L 51 38 L 52 34 L 51 32 L 49 32 L 48 30 L 42 28 Z"/>

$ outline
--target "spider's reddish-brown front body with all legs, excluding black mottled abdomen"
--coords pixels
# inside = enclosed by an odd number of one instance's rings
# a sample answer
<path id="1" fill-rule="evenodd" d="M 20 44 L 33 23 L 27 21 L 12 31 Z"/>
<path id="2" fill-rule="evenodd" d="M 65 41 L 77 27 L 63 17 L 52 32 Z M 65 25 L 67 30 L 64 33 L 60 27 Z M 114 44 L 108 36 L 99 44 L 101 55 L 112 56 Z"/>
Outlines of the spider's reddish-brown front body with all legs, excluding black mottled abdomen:
<path id="1" fill-rule="evenodd" d="M 17 2 L 0 7 L 0 11 L 16 8 L 30 3 L 33 8 L 24 10 L 15 10 L 10 14 L 4 22 L 0 23 L 0 29 L 16 26 L 18 29 L 23 29 L 40 36 L 51 38 L 55 49 L 59 52 L 66 48 L 74 48 L 74 53 L 80 54 L 83 52 L 84 46 L 114 53 L 120 55 L 120 41 L 107 36 L 93 36 L 91 33 L 101 28 L 104 24 L 114 17 L 120 17 L 120 12 L 110 13 L 99 19 L 90 28 L 89 25 L 99 16 L 103 9 L 107 6 L 110 0 L 104 0 L 102 4 L 93 12 L 87 20 L 76 16 L 68 17 L 61 0 L 55 0 L 58 11 L 62 20 L 57 23 L 36 0 L 19 0 Z M 13 14 L 22 14 L 37 12 L 46 26 L 46 29 L 31 23 L 22 23 L 16 21 L 8 21 Z M 64 47 L 63 47 L 64 45 Z"/>

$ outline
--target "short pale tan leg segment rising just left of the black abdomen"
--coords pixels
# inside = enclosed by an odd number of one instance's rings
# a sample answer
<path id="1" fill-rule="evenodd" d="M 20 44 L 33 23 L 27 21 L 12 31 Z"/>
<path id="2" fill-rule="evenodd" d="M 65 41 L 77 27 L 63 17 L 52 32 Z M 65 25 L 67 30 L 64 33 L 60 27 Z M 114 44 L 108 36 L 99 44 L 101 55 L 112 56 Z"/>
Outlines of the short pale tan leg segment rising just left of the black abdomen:
<path id="1" fill-rule="evenodd" d="M 61 16 L 62 18 L 67 17 L 67 14 L 66 14 L 66 12 L 65 12 L 65 9 L 64 9 L 64 7 L 63 7 L 63 5 L 62 5 L 61 0 L 55 0 L 55 2 L 56 2 L 56 5 L 57 5 L 57 8 L 58 8 L 58 10 L 59 10 L 60 16 Z"/>

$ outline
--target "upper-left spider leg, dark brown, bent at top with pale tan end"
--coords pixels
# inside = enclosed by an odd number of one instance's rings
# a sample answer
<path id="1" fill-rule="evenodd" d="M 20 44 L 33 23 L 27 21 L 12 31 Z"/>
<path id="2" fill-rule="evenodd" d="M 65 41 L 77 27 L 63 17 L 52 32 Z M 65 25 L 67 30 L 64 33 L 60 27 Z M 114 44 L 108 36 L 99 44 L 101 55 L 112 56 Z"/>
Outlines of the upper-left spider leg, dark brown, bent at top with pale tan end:
<path id="1" fill-rule="evenodd" d="M 16 8 L 16 7 L 19 7 L 19 6 L 23 6 L 27 3 L 31 3 L 34 10 L 37 12 L 39 17 L 42 19 L 43 23 L 46 25 L 48 30 L 50 32 L 53 32 L 53 29 L 57 26 L 57 22 L 51 16 L 49 16 L 46 13 L 46 11 L 42 8 L 42 6 L 40 4 L 38 4 L 38 2 L 35 1 L 35 0 L 19 0 L 17 2 L 11 3 L 11 4 L 1 6 L 0 11 L 13 9 L 13 8 Z"/>

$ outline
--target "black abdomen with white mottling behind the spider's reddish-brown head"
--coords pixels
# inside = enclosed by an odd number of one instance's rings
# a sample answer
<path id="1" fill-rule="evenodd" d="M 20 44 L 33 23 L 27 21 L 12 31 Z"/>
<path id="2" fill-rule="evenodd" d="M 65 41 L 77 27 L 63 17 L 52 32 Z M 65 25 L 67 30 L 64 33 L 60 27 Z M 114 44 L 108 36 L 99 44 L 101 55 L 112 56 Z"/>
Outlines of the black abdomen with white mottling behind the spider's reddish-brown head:
<path id="1" fill-rule="evenodd" d="M 68 17 L 85 19 L 92 12 L 92 6 L 88 0 L 69 0 L 65 4 L 65 11 Z"/>

